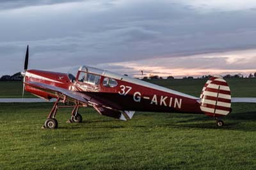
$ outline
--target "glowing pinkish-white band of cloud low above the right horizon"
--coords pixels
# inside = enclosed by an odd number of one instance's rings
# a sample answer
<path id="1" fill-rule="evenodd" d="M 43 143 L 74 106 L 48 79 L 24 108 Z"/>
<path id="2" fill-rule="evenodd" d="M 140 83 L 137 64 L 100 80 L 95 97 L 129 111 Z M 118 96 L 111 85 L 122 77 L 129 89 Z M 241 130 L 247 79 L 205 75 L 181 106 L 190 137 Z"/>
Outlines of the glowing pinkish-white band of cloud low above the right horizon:
<path id="1" fill-rule="evenodd" d="M 240 56 L 243 54 L 243 56 Z M 234 59 L 234 60 L 232 60 Z M 212 54 L 196 54 L 193 56 L 179 56 L 172 58 L 152 58 L 140 61 L 125 61 L 120 63 L 108 63 L 97 65 L 100 68 L 115 68 L 115 72 L 130 73 L 135 77 L 159 75 L 175 77 L 202 75 L 225 75 L 227 73 L 256 72 L 256 50 L 240 50 Z M 144 75 L 141 75 L 143 70 Z"/>

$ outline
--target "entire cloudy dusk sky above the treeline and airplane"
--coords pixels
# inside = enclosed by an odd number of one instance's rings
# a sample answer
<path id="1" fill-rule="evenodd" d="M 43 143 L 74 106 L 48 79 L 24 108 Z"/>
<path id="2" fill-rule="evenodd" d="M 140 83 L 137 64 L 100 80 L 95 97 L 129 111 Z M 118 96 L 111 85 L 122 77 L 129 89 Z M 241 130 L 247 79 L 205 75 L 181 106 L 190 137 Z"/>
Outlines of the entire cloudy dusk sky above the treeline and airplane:
<path id="1" fill-rule="evenodd" d="M 256 72 L 253 0 L 3 0 L 0 76 L 81 65 L 140 76 Z"/>

